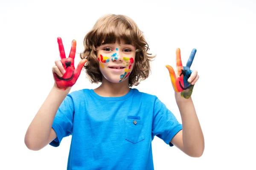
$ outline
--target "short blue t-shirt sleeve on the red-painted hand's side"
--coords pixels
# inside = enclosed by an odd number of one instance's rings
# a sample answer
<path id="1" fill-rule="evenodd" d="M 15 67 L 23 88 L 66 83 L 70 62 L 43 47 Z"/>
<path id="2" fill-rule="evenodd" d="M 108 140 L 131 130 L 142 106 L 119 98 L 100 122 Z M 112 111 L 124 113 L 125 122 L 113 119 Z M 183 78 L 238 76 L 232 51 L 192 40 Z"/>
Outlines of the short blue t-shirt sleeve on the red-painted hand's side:
<path id="1" fill-rule="evenodd" d="M 64 101 L 61 103 L 58 111 L 53 120 L 52 128 L 55 131 L 57 138 L 55 138 L 49 144 L 58 147 L 61 143 L 61 140 L 70 136 L 73 131 L 73 117 L 74 117 L 74 105 L 73 99 L 68 94 Z"/>

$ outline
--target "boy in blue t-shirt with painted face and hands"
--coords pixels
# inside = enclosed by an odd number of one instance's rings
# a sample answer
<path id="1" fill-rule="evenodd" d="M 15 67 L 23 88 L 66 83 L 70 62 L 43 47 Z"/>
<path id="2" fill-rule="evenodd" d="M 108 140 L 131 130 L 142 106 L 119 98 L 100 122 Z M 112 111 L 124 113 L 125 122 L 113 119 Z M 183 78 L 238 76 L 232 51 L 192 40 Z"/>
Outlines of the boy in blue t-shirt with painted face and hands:
<path id="1" fill-rule="evenodd" d="M 204 136 L 190 97 L 199 78 L 197 71 L 189 69 L 195 51 L 182 67 L 177 49 L 177 76 L 166 66 L 181 125 L 156 96 L 131 88 L 148 77 L 149 62 L 155 56 L 148 53 L 142 32 L 130 18 L 101 17 L 84 38 L 76 69 L 76 41 L 68 58 L 61 38 L 58 44 L 61 60 L 52 68 L 55 84 L 27 130 L 29 149 L 40 150 L 47 144 L 57 147 L 63 137 L 72 135 L 68 170 L 153 170 L 154 136 L 189 156 L 202 155 Z M 83 66 L 90 82 L 101 85 L 69 94 Z"/>

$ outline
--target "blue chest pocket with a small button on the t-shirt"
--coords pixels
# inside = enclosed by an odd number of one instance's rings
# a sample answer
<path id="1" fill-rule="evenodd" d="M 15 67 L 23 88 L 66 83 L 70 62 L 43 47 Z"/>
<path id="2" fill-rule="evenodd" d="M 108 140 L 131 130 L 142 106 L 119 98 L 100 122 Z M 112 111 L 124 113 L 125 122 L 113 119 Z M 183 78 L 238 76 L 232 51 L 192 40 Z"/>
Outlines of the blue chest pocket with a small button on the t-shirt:
<path id="1" fill-rule="evenodd" d="M 125 139 L 132 143 L 138 143 L 145 139 L 143 120 L 125 119 Z"/>

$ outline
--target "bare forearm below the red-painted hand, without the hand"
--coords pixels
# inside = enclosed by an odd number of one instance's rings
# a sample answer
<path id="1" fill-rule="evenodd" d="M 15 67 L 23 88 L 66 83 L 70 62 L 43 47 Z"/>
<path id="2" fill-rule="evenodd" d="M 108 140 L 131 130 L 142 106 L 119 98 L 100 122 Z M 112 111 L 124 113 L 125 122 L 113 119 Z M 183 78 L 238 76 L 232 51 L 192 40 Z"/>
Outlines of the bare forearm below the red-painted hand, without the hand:
<path id="1" fill-rule="evenodd" d="M 52 88 L 26 131 L 25 144 L 28 148 L 34 150 L 47 145 L 55 114 L 69 91 L 70 88 L 66 91 Z"/>

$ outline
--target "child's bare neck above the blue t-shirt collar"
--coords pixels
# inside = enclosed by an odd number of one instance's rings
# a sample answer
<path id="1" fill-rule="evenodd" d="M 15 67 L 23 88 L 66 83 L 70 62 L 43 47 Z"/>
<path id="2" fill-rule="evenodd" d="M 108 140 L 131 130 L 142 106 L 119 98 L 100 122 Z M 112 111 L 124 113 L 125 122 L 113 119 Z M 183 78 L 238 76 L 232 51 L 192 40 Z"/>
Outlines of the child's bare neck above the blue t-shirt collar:
<path id="1" fill-rule="evenodd" d="M 103 97 L 124 96 L 130 91 L 128 78 L 119 83 L 112 83 L 105 79 L 105 77 L 102 77 L 102 84 L 93 91 Z"/>

